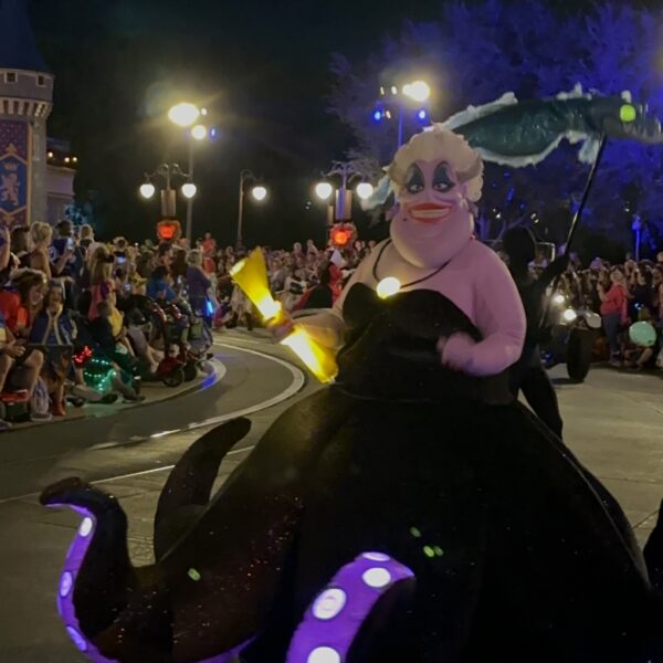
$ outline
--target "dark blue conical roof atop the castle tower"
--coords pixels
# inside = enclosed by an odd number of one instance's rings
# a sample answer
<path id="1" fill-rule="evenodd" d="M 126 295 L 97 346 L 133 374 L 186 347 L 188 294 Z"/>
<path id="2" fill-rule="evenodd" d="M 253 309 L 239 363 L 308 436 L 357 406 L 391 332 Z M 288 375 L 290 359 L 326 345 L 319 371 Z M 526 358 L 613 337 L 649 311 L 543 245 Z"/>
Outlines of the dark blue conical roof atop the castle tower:
<path id="1" fill-rule="evenodd" d="M 0 69 L 48 72 L 28 18 L 28 0 L 0 0 Z"/>

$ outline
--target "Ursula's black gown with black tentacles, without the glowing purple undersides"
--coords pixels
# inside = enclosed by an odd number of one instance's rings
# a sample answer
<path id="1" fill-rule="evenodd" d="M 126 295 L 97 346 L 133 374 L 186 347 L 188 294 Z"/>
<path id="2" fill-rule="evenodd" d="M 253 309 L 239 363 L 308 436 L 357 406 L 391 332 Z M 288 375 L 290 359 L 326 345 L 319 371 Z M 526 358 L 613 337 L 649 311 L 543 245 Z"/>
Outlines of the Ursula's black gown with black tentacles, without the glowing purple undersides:
<path id="1" fill-rule="evenodd" d="M 113 497 L 75 480 L 44 492 L 96 509 L 74 596 L 84 634 L 122 663 L 202 661 L 251 639 L 245 661 L 281 663 L 336 571 L 379 551 L 415 586 L 367 620 L 345 663 L 663 662 L 661 604 L 614 498 L 511 400 L 506 375 L 441 366 L 440 336 L 481 338 L 463 312 L 438 292 L 380 301 L 358 284 L 344 318 L 336 383 L 286 410 L 211 503 L 249 422 L 178 462 L 154 566 L 130 567 Z"/>

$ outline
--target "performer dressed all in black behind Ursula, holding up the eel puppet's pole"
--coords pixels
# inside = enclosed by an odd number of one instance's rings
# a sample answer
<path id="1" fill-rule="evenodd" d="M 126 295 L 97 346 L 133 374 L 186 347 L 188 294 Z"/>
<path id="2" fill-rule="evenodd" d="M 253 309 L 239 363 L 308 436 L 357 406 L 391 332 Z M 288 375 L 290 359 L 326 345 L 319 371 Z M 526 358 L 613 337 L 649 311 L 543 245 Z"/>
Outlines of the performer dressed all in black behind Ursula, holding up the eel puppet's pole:
<path id="1" fill-rule="evenodd" d="M 559 403 L 552 382 L 541 364 L 539 344 L 549 335 L 549 329 L 541 328 L 544 306 L 547 302 L 546 291 L 555 278 L 565 272 L 569 260 L 566 255 L 556 257 L 538 278 L 535 278 L 529 272 L 529 264 L 535 257 L 536 241 L 529 230 L 508 230 L 504 234 L 502 248 L 508 256 L 508 270 L 518 287 L 527 317 L 525 346 L 520 358 L 512 368 L 511 390 L 515 397 L 518 396 L 518 391 L 523 391 L 539 419 L 561 438 L 564 423 Z"/>

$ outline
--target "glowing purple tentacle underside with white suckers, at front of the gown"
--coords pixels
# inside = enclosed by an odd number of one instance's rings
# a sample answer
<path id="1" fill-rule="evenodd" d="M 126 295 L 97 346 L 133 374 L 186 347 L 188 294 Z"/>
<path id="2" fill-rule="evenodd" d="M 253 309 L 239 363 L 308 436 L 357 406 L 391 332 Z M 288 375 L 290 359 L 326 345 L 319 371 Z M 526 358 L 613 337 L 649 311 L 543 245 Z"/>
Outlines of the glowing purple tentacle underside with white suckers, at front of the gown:
<path id="1" fill-rule="evenodd" d="M 306 611 L 286 663 L 343 663 L 378 599 L 413 577 L 383 552 L 364 552 L 344 566 Z"/>

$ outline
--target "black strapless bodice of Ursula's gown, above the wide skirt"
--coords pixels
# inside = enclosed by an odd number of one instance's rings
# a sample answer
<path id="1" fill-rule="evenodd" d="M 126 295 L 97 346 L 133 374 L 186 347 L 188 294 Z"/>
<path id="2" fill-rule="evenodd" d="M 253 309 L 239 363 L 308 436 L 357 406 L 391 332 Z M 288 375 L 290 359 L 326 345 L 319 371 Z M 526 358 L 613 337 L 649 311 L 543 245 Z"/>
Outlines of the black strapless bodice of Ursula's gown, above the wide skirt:
<path id="1" fill-rule="evenodd" d="M 336 385 L 358 398 L 441 401 L 451 396 L 507 403 L 507 373 L 477 378 L 442 366 L 441 336 L 481 334 L 470 318 L 436 291 L 415 290 L 380 299 L 362 283 L 344 303 L 346 339 Z"/>

